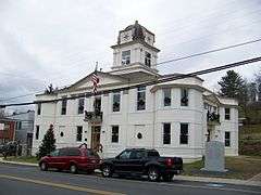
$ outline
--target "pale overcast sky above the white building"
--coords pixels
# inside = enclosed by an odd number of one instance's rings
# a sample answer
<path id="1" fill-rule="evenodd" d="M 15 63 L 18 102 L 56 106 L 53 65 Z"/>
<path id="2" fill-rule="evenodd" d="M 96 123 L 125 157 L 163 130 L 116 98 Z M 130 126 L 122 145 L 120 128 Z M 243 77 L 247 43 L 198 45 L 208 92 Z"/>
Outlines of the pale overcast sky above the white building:
<path id="1" fill-rule="evenodd" d="M 156 34 L 159 62 L 261 38 L 261 0 L 0 0 L 0 99 L 110 70 L 119 30 Z M 188 73 L 261 55 L 261 42 L 159 66 Z M 250 79 L 261 63 L 234 68 Z M 216 89 L 225 72 L 202 76 Z M 7 102 L 34 100 L 34 95 Z M 2 103 L 2 102 L 0 102 Z"/>

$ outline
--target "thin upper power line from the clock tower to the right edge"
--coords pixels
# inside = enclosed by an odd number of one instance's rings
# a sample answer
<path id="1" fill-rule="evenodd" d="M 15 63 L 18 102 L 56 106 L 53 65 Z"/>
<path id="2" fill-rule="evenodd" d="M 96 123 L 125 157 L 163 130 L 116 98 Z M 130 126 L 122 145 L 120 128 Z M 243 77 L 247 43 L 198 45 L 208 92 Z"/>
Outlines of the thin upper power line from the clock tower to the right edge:
<path id="1" fill-rule="evenodd" d="M 246 44 L 250 44 L 250 43 L 254 43 L 254 42 L 259 42 L 259 41 L 261 41 L 261 38 L 256 39 L 256 40 L 241 42 L 241 43 L 238 43 L 238 44 L 232 44 L 232 46 L 224 47 L 224 48 L 217 48 L 217 49 L 214 49 L 214 50 L 209 50 L 209 51 L 201 52 L 201 53 L 196 53 L 196 54 L 186 55 L 186 56 L 182 56 L 182 57 L 177 57 L 177 58 L 172 58 L 172 60 L 169 60 L 169 61 L 163 61 L 163 62 L 160 62 L 160 63 L 156 64 L 156 66 L 159 66 L 161 64 L 171 63 L 171 62 L 183 61 L 183 60 L 191 58 L 191 57 L 195 57 L 195 56 L 206 55 L 206 54 L 209 54 L 209 53 L 214 53 L 214 52 L 219 52 L 219 51 L 223 51 L 223 50 L 228 50 L 228 49 L 232 49 L 232 48 L 237 48 L 237 47 L 241 47 L 241 46 L 246 46 Z"/>

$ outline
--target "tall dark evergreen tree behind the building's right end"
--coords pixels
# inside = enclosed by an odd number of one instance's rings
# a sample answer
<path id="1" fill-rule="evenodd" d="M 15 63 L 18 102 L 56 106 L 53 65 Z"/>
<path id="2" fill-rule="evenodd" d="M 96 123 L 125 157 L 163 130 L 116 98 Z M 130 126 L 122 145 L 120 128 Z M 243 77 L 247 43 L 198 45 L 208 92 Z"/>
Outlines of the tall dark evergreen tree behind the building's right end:
<path id="1" fill-rule="evenodd" d="M 239 104 L 246 105 L 248 100 L 247 82 L 239 74 L 228 70 L 217 83 L 221 86 L 220 95 L 237 99 Z"/>

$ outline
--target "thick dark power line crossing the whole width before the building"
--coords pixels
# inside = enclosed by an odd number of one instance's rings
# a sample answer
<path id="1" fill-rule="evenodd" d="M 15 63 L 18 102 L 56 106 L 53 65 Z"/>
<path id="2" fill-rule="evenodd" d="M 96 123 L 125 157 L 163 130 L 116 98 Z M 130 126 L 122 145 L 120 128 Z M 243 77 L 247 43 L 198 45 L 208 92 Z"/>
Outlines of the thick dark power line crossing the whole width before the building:
<path id="1" fill-rule="evenodd" d="M 112 93 L 112 92 L 136 89 L 138 87 L 153 86 L 153 84 L 157 84 L 157 83 L 169 82 L 169 81 L 184 79 L 184 78 L 188 78 L 188 77 L 196 77 L 196 76 L 199 76 L 199 75 L 204 75 L 204 74 L 214 73 L 214 72 L 219 72 L 219 70 L 223 70 L 223 69 L 227 69 L 227 68 L 232 68 L 232 67 L 243 66 L 243 65 L 256 63 L 256 62 L 259 62 L 259 61 L 261 61 L 261 56 L 245 60 L 245 61 L 239 61 L 239 62 L 235 62 L 235 63 L 231 63 L 231 64 L 226 64 L 226 65 L 222 65 L 222 66 L 217 66 L 217 67 L 213 67 L 213 68 L 208 68 L 208 69 L 203 69 L 203 70 L 199 70 L 199 72 L 192 72 L 192 73 L 189 73 L 189 74 L 170 76 L 169 78 L 160 78 L 158 80 L 147 81 L 147 82 L 138 83 L 138 84 L 133 84 L 133 86 L 129 86 L 129 87 L 98 91 L 97 94 L 98 95 L 108 94 L 108 93 Z M 24 103 L 15 103 L 15 104 L 3 104 L 3 105 L 0 105 L 0 107 L 32 105 L 32 104 L 38 104 L 38 103 L 52 103 L 52 102 L 54 103 L 54 102 L 59 102 L 59 101 L 62 101 L 62 100 L 75 100 L 75 99 L 79 99 L 79 98 L 89 98 L 89 96 L 94 96 L 94 94 L 91 92 L 87 92 L 87 93 L 82 94 L 82 95 L 70 96 L 70 98 L 61 98 L 61 99 L 57 99 L 57 100 L 24 102 Z"/>

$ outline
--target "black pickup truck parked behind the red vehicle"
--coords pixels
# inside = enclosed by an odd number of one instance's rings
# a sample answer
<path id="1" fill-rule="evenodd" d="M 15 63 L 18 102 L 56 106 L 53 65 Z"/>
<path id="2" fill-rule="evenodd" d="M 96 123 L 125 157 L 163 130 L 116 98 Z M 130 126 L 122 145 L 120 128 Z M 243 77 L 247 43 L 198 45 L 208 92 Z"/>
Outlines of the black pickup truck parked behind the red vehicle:
<path id="1" fill-rule="evenodd" d="M 183 170 L 179 157 L 161 157 L 156 150 L 127 148 L 115 158 L 104 159 L 100 169 L 103 177 L 140 174 L 148 176 L 149 181 L 171 181 L 174 174 Z"/>

